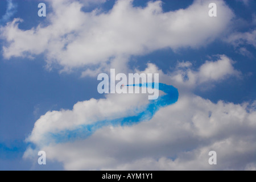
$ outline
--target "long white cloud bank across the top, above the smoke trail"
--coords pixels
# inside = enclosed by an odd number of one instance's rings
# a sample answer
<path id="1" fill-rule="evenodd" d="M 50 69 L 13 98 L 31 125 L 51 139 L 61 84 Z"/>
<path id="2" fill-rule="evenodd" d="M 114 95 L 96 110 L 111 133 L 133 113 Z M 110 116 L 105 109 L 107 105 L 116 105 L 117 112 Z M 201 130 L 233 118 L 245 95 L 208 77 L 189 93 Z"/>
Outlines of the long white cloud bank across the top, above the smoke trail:
<path id="1" fill-rule="evenodd" d="M 98 9 L 83 12 L 80 1 L 49 2 L 53 13 L 47 15 L 48 26 L 20 30 L 20 19 L 14 19 L 1 29 L 7 42 L 3 47 L 6 59 L 44 53 L 49 67 L 57 63 L 66 70 L 85 65 L 104 68 L 109 62 L 123 67 L 120 65 L 127 60 L 114 61 L 115 57 L 142 55 L 165 47 L 204 46 L 221 36 L 234 16 L 221 0 L 214 1 L 218 6 L 214 18 L 208 16 L 212 1 L 197 0 L 187 9 L 166 13 L 160 1 L 134 7 L 131 0 L 119 0 L 108 13 Z"/>

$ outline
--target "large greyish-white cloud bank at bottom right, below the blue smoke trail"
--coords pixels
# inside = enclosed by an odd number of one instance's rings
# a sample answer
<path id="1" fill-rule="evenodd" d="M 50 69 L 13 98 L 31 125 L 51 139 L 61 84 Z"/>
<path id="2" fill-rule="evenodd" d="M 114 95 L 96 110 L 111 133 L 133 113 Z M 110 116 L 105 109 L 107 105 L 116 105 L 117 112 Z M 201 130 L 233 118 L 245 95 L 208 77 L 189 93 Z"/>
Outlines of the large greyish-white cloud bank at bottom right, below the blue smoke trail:
<path id="1" fill-rule="evenodd" d="M 65 169 L 246 169 L 253 158 L 256 112 L 183 96 L 151 121 L 104 127 L 90 138 L 40 148 Z M 217 166 L 208 152 L 217 152 Z M 187 152 L 184 152 L 187 151 Z M 248 157 L 249 156 L 249 157 Z M 248 169 L 248 168 L 247 168 Z"/>

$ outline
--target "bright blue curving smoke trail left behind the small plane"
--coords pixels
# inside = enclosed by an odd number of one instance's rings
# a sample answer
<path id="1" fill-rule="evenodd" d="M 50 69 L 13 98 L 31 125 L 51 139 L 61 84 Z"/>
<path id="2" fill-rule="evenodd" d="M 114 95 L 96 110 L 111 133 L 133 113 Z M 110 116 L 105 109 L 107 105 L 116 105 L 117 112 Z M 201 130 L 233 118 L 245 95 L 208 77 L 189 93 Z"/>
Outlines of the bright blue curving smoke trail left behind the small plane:
<path id="1" fill-rule="evenodd" d="M 160 96 L 157 100 L 151 100 L 150 103 L 145 107 L 145 109 L 134 116 L 129 116 L 125 118 L 118 118 L 113 120 L 104 120 L 98 121 L 91 125 L 81 125 L 75 130 L 64 130 L 60 133 L 50 133 L 49 138 L 51 138 L 55 143 L 63 143 L 67 141 L 74 141 L 76 139 L 85 139 L 92 135 L 96 130 L 104 127 L 104 126 L 129 126 L 134 125 L 135 123 L 139 123 L 145 120 L 151 119 L 156 111 L 160 109 L 160 107 L 168 106 L 174 104 L 179 98 L 178 90 L 171 85 L 166 84 L 136 84 L 133 86 L 146 86 L 148 88 L 154 88 L 154 85 L 159 85 L 159 90 L 162 90 L 164 93 L 163 96 Z M 127 85 L 131 86 L 131 85 Z M 156 88 L 155 88 L 156 89 Z"/>

